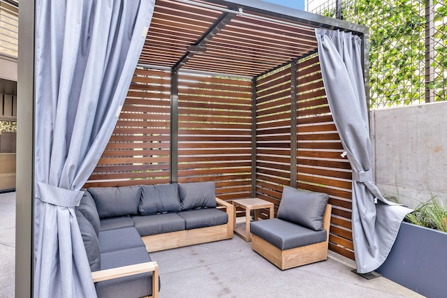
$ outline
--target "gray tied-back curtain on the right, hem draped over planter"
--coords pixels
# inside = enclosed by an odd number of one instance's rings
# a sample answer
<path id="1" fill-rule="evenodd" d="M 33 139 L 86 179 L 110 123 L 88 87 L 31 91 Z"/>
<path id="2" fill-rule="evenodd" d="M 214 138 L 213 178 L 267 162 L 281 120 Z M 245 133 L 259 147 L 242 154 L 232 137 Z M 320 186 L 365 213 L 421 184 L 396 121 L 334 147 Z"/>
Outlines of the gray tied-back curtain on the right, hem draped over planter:
<path id="1" fill-rule="evenodd" d="M 411 209 L 388 202 L 372 179 L 368 107 L 359 36 L 316 29 L 318 56 L 332 117 L 352 173 L 352 228 L 358 273 L 387 258 L 404 216 Z"/>

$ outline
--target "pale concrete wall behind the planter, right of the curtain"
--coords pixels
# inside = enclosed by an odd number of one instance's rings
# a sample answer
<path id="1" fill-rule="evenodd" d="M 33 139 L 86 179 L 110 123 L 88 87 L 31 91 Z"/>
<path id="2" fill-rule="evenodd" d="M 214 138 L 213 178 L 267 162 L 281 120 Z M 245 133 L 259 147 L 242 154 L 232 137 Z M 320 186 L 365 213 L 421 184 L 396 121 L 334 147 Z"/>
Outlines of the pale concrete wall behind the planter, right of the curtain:
<path id="1" fill-rule="evenodd" d="M 447 198 L 447 102 L 372 111 L 376 184 L 409 207 Z"/>

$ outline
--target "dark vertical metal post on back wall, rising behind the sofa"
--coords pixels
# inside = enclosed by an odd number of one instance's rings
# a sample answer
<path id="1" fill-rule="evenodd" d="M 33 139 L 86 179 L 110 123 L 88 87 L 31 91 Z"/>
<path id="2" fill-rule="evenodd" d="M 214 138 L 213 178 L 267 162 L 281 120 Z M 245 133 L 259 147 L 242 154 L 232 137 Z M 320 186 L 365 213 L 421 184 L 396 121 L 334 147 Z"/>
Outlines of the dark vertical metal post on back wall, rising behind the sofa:
<path id="1" fill-rule="evenodd" d="M 170 183 L 177 183 L 179 162 L 179 73 L 170 73 Z"/>

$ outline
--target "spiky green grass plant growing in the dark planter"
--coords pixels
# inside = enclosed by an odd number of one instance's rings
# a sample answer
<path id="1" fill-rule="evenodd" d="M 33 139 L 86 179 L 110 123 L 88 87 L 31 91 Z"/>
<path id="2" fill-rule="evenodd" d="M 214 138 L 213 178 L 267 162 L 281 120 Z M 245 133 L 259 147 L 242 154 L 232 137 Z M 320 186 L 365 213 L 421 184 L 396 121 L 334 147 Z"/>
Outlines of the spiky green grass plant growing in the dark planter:
<path id="1" fill-rule="evenodd" d="M 427 202 L 421 202 L 405 217 L 405 221 L 426 228 L 447 232 L 447 206 L 432 195 Z"/>

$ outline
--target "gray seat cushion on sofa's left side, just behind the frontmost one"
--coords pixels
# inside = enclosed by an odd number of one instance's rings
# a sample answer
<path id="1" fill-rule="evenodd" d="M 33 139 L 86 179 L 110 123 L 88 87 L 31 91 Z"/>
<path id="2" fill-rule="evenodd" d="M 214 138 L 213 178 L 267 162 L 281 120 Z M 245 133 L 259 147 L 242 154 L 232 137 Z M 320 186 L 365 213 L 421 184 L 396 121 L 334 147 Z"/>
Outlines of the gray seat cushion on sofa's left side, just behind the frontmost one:
<path id="1" fill-rule="evenodd" d="M 145 247 L 135 228 L 122 228 L 99 232 L 101 253 L 121 251 L 127 248 Z"/>

